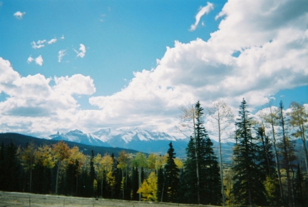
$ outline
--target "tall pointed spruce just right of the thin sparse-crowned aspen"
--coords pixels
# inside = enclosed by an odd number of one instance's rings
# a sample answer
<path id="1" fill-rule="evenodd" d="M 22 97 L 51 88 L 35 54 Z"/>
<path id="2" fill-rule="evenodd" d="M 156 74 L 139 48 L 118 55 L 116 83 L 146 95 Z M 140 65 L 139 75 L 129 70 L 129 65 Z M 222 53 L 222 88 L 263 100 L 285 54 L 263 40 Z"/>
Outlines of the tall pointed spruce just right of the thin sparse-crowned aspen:
<path id="1" fill-rule="evenodd" d="M 241 205 L 262 205 L 266 202 L 264 185 L 259 175 L 260 168 L 257 165 L 259 146 L 251 135 L 251 118 L 246 109 L 246 100 L 243 98 L 239 116 L 235 123 L 237 130 L 237 144 L 233 150 L 233 194 L 235 202 Z"/>

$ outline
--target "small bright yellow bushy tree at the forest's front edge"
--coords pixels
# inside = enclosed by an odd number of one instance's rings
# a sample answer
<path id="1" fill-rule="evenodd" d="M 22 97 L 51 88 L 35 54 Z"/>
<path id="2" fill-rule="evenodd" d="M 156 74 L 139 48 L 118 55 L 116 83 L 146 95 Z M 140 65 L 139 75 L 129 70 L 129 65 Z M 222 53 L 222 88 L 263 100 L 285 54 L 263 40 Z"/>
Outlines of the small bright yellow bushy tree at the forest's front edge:
<path id="1" fill-rule="evenodd" d="M 142 201 L 157 202 L 157 176 L 154 172 L 151 172 L 149 178 L 142 182 L 137 193 L 141 193 Z"/>

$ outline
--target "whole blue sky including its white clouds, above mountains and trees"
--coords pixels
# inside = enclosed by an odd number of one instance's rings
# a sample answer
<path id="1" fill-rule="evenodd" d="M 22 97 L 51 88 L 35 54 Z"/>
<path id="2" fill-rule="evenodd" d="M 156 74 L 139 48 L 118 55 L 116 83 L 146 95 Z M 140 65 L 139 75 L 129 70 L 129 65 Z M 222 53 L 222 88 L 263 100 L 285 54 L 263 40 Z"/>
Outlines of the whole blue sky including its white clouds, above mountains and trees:
<path id="1" fill-rule="evenodd" d="M 1 1 L 0 131 L 175 135 L 179 107 L 197 100 L 235 113 L 242 98 L 253 112 L 271 98 L 307 104 L 304 5 Z"/>

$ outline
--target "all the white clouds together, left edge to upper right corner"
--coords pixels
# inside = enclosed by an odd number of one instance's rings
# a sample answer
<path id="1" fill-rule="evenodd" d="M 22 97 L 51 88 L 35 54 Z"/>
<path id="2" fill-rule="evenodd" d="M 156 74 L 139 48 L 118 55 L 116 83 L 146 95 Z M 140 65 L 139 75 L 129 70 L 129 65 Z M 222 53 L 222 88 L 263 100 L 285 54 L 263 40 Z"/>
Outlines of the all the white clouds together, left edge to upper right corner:
<path id="1" fill-rule="evenodd" d="M 1 130 L 48 135 L 138 126 L 179 136 L 179 107 L 197 100 L 204 108 L 224 100 L 235 111 L 242 98 L 249 110 L 264 105 L 281 89 L 308 84 L 305 5 L 302 0 L 228 1 L 209 40 L 175 41 L 155 68 L 135 72 L 127 87 L 111 96 L 93 96 L 90 77 L 21 77 L 0 58 L 0 92 L 8 94 L 0 102 Z M 86 47 L 80 44 L 75 52 L 84 57 Z M 76 94 L 89 96 L 97 109 L 81 110 Z"/>

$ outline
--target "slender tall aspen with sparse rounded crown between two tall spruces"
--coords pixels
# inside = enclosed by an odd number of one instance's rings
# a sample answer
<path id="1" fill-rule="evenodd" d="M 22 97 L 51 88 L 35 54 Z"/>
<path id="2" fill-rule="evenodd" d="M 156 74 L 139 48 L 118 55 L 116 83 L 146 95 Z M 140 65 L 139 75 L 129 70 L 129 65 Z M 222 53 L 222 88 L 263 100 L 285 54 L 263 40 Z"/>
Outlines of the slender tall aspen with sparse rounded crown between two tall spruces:
<path id="1" fill-rule="evenodd" d="M 219 143 L 219 167 L 220 167 L 220 180 L 223 180 L 223 168 L 222 168 L 222 150 L 221 150 L 221 135 L 224 129 L 230 126 L 233 122 L 234 115 L 231 108 L 228 107 L 224 101 L 216 101 L 212 103 L 212 107 L 207 109 L 207 117 L 209 122 L 213 123 L 218 132 Z M 221 182 L 222 204 L 226 206 L 226 198 L 224 195 L 224 184 Z"/>

